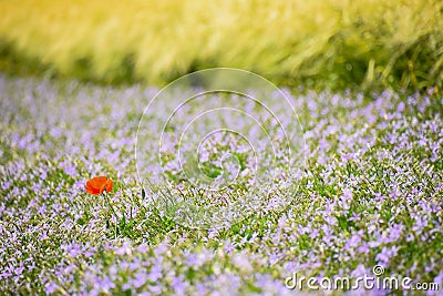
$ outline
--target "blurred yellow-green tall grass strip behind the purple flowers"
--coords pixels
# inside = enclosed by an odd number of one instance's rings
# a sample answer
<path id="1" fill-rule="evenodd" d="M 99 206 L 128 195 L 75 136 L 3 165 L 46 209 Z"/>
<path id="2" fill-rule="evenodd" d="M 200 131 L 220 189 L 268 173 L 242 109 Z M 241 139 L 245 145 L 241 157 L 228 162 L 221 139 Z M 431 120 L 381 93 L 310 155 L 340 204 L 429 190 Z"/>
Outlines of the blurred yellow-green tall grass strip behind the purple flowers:
<path id="1" fill-rule="evenodd" d="M 206 68 L 279 85 L 443 81 L 443 1 L 2 0 L 0 71 L 164 85 Z"/>

